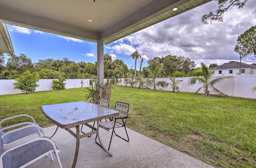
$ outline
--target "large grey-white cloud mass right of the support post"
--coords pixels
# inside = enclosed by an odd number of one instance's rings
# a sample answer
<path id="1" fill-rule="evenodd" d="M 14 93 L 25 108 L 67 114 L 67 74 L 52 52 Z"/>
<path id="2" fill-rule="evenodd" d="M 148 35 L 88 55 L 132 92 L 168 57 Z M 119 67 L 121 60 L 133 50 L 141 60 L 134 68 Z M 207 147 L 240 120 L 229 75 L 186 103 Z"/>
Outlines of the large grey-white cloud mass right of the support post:
<path id="1" fill-rule="evenodd" d="M 256 25 L 256 6 L 253 0 L 249 0 L 242 9 L 229 9 L 223 22 L 203 24 L 202 15 L 217 8 L 216 1 L 209 2 L 117 40 L 114 46 L 106 48 L 113 53 L 125 55 L 131 55 L 137 50 L 141 55 L 146 55 L 147 59 L 168 54 L 182 55 L 194 60 L 196 64 L 238 61 L 239 55 L 233 49 L 238 36 Z M 243 60 L 245 63 L 256 62 L 252 56 Z"/>

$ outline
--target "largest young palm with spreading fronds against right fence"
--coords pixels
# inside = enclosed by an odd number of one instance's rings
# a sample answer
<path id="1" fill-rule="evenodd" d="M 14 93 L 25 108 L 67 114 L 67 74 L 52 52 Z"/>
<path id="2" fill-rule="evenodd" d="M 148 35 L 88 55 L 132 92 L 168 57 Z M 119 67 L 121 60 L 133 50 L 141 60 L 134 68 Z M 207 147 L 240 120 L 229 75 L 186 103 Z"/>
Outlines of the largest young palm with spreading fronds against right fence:
<path id="1" fill-rule="evenodd" d="M 209 68 L 206 65 L 204 65 L 204 63 L 201 63 L 201 69 L 198 69 L 195 72 L 197 72 L 199 76 L 192 77 L 189 80 L 189 85 L 194 85 L 196 81 L 203 84 L 203 86 L 199 88 L 196 93 L 198 93 L 201 89 L 204 89 L 203 91 L 204 95 L 208 96 L 210 93 L 209 89 L 212 89 L 214 92 L 218 93 L 221 96 L 227 96 L 221 91 L 219 91 L 218 89 L 216 89 L 214 85 L 216 83 L 221 82 L 223 79 L 232 78 L 232 76 L 224 76 L 224 77 L 218 77 L 218 78 L 212 79 L 212 76 L 214 75 L 215 70 L 209 71 Z"/>

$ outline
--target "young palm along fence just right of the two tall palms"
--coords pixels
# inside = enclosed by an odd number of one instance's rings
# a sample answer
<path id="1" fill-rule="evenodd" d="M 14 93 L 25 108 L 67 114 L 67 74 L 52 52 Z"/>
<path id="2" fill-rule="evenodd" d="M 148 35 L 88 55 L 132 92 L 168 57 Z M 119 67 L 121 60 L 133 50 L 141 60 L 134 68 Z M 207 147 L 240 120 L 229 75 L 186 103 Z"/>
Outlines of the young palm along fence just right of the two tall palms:
<path id="1" fill-rule="evenodd" d="M 151 79 L 146 80 L 147 87 L 153 87 L 154 90 L 156 90 L 156 87 L 165 87 L 166 82 L 165 81 L 156 81 L 156 78 L 160 76 L 160 67 L 156 67 L 154 71 L 151 71 L 149 68 L 146 69 L 148 71 L 148 76 L 151 77 Z"/>

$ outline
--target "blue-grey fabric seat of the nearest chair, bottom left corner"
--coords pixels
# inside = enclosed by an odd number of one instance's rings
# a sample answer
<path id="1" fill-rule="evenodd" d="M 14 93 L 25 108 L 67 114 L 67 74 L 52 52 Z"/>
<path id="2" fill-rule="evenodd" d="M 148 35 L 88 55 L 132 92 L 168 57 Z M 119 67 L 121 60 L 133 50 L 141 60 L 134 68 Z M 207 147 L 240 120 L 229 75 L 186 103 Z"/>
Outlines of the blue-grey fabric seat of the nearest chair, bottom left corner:
<path id="1" fill-rule="evenodd" d="M 6 153 L 3 156 L 3 167 L 20 167 L 51 150 L 54 150 L 54 147 L 49 141 L 39 140 L 32 142 Z"/>

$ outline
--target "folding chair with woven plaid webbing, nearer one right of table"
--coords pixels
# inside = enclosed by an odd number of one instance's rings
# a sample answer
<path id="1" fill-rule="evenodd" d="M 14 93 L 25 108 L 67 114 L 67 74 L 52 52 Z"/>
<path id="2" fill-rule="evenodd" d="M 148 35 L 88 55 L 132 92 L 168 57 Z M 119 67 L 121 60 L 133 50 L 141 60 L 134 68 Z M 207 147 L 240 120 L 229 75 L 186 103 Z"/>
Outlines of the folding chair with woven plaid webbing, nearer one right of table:
<path id="1" fill-rule="evenodd" d="M 113 129 L 112 134 L 111 134 L 111 138 L 110 138 L 110 144 L 109 144 L 109 149 L 110 150 L 110 145 L 111 145 L 111 141 L 112 141 L 112 137 L 113 137 L 113 133 L 115 133 L 115 135 L 117 135 L 118 137 L 122 138 L 124 141 L 129 142 L 129 136 L 125 127 L 126 121 L 128 117 L 128 112 L 129 112 L 129 104 L 128 103 L 124 103 L 124 102 L 120 102 L 117 101 L 116 105 L 115 105 L 115 110 L 119 111 L 119 115 L 117 117 L 113 117 L 110 121 L 103 121 L 99 123 L 99 126 L 105 130 L 110 130 Z M 120 135 L 116 134 L 115 132 L 115 128 L 121 128 L 124 127 L 125 133 L 127 135 L 127 139 L 121 137 Z M 95 142 L 97 143 L 97 135 L 96 134 L 96 138 L 95 138 Z M 98 143 L 97 143 L 98 144 Z"/>

